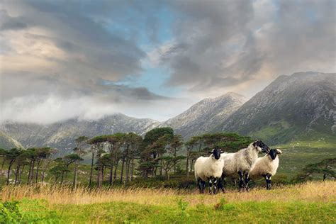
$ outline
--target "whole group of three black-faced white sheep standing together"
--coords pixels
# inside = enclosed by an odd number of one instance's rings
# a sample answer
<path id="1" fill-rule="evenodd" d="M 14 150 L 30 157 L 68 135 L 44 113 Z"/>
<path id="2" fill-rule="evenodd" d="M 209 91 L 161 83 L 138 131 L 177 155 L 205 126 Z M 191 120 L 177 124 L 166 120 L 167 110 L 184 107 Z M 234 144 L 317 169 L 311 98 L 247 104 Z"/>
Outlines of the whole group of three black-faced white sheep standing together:
<path id="1" fill-rule="evenodd" d="M 258 157 L 264 152 L 264 157 Z M 204 193 L 206 181 L 209 193 L 216 194 L 218 189 L 225 192 L 225 178 L 239 177 L 239 191 L 248 191 L 250 178 L 264 177 L 267 189 L 271 189 L 271 177 L 279 167 L 281 150 L 272 150 L 262 141 L 254 141 L 247 148 L 235 153 L 213 149 L 209 157 L 198 157 L 195 162 L 195 177 L 200 193 Z"/>

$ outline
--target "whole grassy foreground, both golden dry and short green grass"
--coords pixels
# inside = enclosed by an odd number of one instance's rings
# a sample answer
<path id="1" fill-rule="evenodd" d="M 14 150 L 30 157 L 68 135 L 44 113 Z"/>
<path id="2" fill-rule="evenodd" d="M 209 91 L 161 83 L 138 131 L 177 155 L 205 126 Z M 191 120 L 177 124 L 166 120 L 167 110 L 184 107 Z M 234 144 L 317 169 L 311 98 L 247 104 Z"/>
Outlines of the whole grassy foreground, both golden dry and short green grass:
<path id="1" fill-rule="evenodd" d="M 1 200 L 0 223 L 336 223 L 335 181 L 215 196 L 170 189 L 9 186 Z"/>

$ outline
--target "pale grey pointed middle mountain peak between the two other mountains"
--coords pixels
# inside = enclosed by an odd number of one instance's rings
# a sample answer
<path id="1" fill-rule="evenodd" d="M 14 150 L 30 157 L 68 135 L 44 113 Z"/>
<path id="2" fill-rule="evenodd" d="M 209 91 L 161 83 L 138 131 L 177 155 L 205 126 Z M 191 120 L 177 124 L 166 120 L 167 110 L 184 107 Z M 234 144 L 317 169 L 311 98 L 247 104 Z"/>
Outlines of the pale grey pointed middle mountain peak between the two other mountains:
<path id="1" fill-rule="evenodd" d="M 237 111 L 246 99 L 235 93 L 224 94 L 211 99 L 203 99 L 188 110 L 165 121 L 160 126 L 169 126 L 184 138 L 213 130 L 218 123 Z"/>

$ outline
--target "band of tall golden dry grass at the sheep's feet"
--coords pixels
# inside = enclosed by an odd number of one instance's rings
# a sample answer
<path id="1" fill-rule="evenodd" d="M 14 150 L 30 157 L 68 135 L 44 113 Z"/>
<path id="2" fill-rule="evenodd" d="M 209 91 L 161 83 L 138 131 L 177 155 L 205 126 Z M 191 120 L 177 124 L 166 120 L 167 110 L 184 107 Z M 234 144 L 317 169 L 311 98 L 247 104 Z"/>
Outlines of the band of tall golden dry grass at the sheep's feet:
<path id="1" fill-rule="evenodd" d="M 175 205 L 179 198 L 194 206 L 198 203 L 215 204 L 220 198 L 228 202 L 241 201 L 336 201 L 336 181 L 308 182 L 295 186 L 283 186 L 267 191 L 252 189 L 238 193 L 211 196 L 200 195 L 197 191 L 174 189 L 86 189 L 75 191 L 65 186 L 4 186 L 1 201 L 20 200 L 21 198 L 44 199 L 52 204 L 89 204 L 106 202 L 133 202 L 151 205 Z"/>

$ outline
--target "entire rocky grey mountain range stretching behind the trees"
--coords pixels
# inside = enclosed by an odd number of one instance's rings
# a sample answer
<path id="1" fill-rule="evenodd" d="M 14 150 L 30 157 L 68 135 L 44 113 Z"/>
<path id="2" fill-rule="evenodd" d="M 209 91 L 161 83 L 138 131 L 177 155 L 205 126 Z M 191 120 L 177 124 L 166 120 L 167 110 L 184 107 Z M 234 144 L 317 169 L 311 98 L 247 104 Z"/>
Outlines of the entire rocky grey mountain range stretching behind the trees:
<path id="1" fill-rule="evenodd" d="M 184 138 L 226 131 L 260 138 L 270 145 L 304 139 L 335 140 L 336 74 L 283 75 L 249 101 L 234 93 L 203 99 L 163 123 L 118 113 L 98 121 L 74 118 L 50 125 L 7 121 L 0 125 L 0 130 L 6 133 L 3 139 L 16 139 L 24 147 L 50 146 L 66 153 L 72 150 L 74 139 L 80 135 L 94 137 L 117 132 L 142 135 L 164 126 L 174 128 Z"/>

